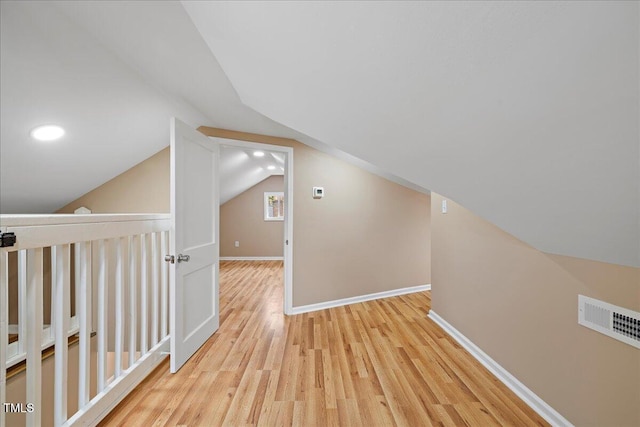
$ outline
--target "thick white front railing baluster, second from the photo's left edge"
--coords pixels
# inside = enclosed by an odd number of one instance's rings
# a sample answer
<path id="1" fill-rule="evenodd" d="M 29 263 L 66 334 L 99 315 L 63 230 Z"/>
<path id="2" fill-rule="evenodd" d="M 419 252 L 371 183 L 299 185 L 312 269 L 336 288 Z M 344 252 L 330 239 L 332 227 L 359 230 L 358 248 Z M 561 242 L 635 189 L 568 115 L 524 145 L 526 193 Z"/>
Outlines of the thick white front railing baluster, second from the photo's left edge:
<path id="1" fill-rule="evenodd" d="M 24 339 L 27 353 L 27 403 L 33 405 L 33 412 L 27 412 L 27 426 L 39 426 L 42 423 L 42 248 L 29 249 L 26 256 L 24 319 L 26 335 Z M 21 320 L 22 322 L 22 320 Z"/>

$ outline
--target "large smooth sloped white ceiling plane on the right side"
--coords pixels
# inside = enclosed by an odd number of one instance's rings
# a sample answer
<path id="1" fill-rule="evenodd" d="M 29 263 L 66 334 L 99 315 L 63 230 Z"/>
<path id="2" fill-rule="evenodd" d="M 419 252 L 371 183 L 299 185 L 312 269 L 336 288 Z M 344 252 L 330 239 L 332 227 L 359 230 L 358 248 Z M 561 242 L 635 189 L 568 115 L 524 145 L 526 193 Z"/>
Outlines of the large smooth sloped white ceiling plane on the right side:
<path id="1" fill-rule="evenodd" d="M 637 2 L 183 2 L 242 101 L 543 251 L 640 265 Z"/>

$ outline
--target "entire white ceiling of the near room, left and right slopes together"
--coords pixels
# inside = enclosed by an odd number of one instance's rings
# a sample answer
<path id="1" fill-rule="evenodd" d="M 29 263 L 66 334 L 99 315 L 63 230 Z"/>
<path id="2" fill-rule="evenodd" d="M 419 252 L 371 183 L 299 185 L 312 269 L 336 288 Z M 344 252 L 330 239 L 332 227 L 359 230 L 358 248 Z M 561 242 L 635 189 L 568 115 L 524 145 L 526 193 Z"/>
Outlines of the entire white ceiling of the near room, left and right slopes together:
<path id="1" fill-rule="evenodd" d="M 361 162 L 544 251 L 640 265 L 636 2 L 1 12 L 3 213 L 55 210 L 121 173 L 168 144 L 175 115 Z M 67 137 L 29 140 L 52 121 Z"/>

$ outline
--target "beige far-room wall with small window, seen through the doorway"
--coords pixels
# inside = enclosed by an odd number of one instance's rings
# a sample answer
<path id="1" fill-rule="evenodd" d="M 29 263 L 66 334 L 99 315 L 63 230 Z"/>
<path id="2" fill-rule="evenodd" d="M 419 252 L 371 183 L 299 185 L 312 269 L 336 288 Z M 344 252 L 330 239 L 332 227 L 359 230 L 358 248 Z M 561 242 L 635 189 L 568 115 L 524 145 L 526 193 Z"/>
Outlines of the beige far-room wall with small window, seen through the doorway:
<path id="1" fill-rule="evenodd" d="M 220 256 L 281 257 L 284 222 L 264 220 L 264 192 L 284 191 L 284 177 L 273 175 L 220 206 Z M 240 247 L 235 247 L 235 241 Z"/>

